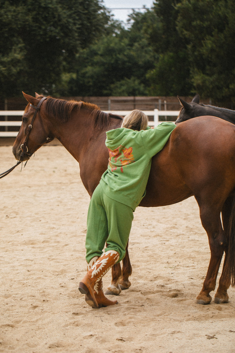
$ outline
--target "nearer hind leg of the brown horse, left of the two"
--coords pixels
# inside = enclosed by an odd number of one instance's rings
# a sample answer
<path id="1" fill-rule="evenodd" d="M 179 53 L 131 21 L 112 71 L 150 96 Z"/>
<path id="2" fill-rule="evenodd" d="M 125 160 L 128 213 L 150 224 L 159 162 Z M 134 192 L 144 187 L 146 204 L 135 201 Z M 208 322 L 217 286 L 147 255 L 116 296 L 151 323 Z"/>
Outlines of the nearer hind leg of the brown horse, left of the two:
<path id="1" fill-rule="evenodd" d="M 198 304 L 209 304 L 211 301 L 211 296 L 209 293 L 215 289 L 216 278 L 226 244 L 226 238 L 224 236 L 220 219 L 220 209 L 218 205 L 217 209 L 212 206 L 214 204 L 215 203 L 213 203 L 212 200 L 210 200 L 210 205 L 206 203 L 203 204 L 198 201 L 200 218 L 208 235 L 211 251 L 210 263 L 203 283 L 203 288 L 197 296 Z"/>

